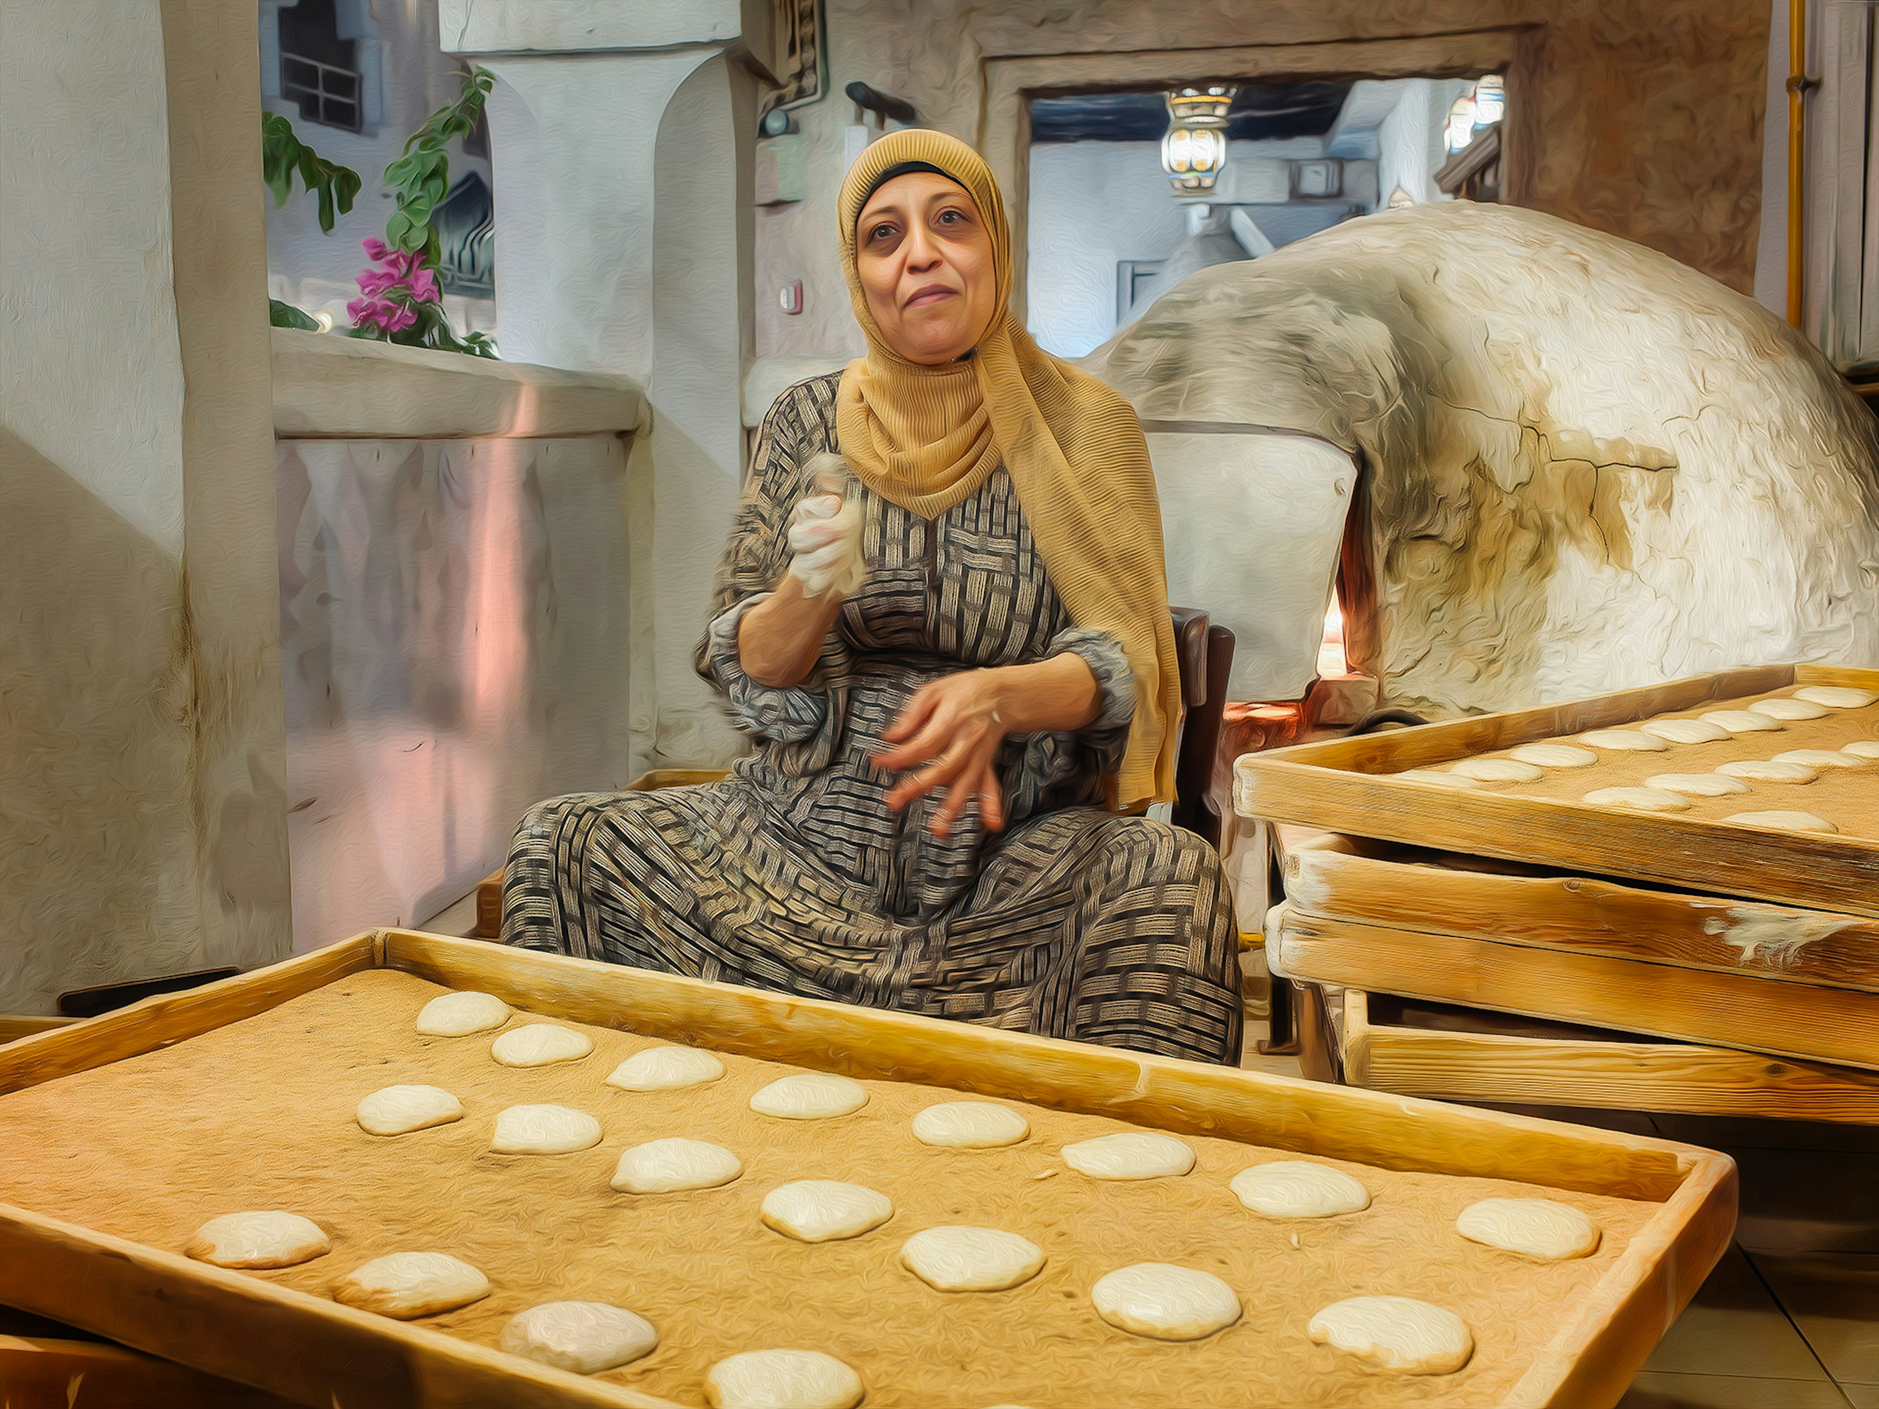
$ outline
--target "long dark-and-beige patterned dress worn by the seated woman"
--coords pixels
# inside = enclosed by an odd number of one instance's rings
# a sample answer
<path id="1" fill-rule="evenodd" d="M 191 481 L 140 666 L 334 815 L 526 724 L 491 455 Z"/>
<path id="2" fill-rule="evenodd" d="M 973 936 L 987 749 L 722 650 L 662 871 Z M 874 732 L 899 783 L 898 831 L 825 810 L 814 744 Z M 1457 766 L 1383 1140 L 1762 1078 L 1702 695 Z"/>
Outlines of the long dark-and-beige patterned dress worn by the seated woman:
<path id="1" fill-rule="evenodd" d="M 750 680 L 744 612 L 789 565 L 804 462 L 832 451 L 838 376 L 770 410 L 697 667 L 755 744 L 722 783 L 590 793 L 528 812 L 504 943 L 812 998 L 964 1018 L 1204 1061 L 1240 1052 L 1238 936 L 1201 838 L 1101 810 L 1135 686 L 1122 646 L 1077 629 L 1009 475 L 936 520 L 862 496 L 868 581 L 802 684 Z M 936 800 L 891 812 L 870 763 L 915 689 L 1075 652 L 1103 689 L 1080 733 L 1009 738 L 1003 832 Z"/>

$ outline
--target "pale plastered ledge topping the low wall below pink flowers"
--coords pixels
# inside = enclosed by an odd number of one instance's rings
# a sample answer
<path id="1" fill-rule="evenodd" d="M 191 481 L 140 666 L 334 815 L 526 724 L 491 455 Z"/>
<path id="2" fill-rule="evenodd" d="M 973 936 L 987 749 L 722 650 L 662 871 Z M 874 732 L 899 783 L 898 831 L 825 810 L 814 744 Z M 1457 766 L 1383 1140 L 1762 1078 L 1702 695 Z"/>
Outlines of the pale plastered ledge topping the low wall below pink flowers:
<path id="1" fill-rule="evenodd" d="M 631 378 L 274 329 L 276 440 L 466 440 L 641 430 Z"/>

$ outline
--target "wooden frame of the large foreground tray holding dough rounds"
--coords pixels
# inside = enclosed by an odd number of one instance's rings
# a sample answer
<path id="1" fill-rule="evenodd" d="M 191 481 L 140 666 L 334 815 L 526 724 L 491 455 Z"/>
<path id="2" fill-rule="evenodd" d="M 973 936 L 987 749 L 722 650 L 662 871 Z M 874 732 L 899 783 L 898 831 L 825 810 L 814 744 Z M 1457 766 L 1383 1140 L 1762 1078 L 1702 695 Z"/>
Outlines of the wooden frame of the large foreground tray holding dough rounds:
<path id="1" fill-rule="evenodd" d="M 953 1086 L 1385 1169 L 1661 1204 L 1501 1400 L 1509 1407 L 1616 1403 L 1734 1227 L 1732 1161 L 1667 1140 L 402 930 L 365 934 L 271 969 L 24 1037 L 0 1048 L 0 1095 L 241 1022 L 370 968 L 479 988 L 541 1014 L 851 1076 Z M 0 1302 L 310 1405 L 671 1409 L 646 1394 L 28 1208 L 0 1206 Z"/>

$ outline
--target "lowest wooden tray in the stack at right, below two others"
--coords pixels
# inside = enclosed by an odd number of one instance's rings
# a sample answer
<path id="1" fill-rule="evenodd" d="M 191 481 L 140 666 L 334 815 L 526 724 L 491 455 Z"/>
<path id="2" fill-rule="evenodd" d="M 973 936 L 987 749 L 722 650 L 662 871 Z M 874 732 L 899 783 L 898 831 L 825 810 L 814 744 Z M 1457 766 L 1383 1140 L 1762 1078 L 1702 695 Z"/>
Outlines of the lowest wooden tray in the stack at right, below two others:
<path id="1" fill-rule="evenodd" d="M 1879 1125 L 1879 1076 L 1345 988 L 1343 1078 L 1445 1101 Z"/>

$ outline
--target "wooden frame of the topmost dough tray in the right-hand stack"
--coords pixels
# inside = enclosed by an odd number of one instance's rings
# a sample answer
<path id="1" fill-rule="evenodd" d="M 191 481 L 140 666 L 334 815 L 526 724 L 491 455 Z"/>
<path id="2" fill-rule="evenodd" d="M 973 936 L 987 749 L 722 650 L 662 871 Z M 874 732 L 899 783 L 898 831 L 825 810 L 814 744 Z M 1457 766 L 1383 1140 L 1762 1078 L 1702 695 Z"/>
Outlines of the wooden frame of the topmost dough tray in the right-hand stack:
<path id="1" fill-rule="evenodd" d="M 1235 808 L 1246 817 L 1387 842 L 1879 917 L 1879 838 L 1766 832 L 1379 776 L 1791 684 L 1875 689 L 1879 671 L 1830 665 L 1725 671 L 1516 714 L 1248 753 L 1235 765 Z"/>

